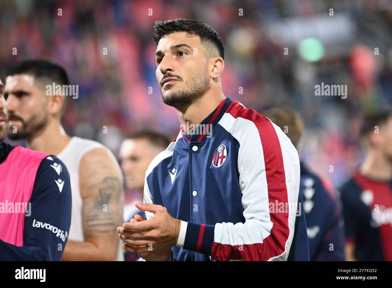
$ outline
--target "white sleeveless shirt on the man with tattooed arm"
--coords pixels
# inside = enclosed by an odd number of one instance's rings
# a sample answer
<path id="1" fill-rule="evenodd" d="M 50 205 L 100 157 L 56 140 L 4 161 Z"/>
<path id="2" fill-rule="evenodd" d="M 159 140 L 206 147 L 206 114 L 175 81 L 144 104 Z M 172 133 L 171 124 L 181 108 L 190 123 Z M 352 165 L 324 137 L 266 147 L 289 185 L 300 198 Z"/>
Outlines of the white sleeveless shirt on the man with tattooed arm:
<path id="1" fill-rule="evenodd" d="M 96 149 L 102 148 L 110 150 L 93 140 L 83 139 L 80 137 L 72 137 L 67 147 L 62 150 L 57 157 L 64 162 L 69 172 L 71 181 L 72 194 L 72 211 L 71 211 L 71 227 L 69 228 L 69 240 L 84 241 L 83 236 L 83 221 L 82 221 L 82 196 L 79 190 L 79 166 L 84 154 Z M 122 241 L 119 243 L 117 261 L 124 261 L 124 254 L 122 250 Z"/>

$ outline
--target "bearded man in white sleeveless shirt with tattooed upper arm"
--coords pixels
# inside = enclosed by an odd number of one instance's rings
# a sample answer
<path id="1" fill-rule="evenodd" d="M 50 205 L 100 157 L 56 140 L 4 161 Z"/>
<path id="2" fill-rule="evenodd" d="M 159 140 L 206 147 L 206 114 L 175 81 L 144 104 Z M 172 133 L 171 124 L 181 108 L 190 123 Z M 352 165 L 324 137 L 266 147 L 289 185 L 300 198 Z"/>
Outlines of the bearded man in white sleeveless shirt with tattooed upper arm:
<path id="1" fill-rule="evenodd" d="M 67 165 L 72 217 L 62 259 L 123 260 L 116 233 L 123 216 L 123 179 L 118 162 L 100 143 L 65 133 L 60 120 L 70 96 L 47 93 L 47 85 L 52 83 L 69 85 L 67 72 L 56 63 L 24 60 L 10 67 L 4 92 L 8 136 L 26 139 L 29 148 L 56 155 Z"/>

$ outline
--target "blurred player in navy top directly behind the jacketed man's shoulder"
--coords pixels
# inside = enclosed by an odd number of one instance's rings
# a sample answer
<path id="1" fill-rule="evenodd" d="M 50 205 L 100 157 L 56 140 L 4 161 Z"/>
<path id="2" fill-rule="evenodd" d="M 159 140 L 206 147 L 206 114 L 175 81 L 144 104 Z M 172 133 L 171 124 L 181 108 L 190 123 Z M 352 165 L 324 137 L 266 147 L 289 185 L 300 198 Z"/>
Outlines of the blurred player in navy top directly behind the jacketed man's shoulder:
<path id="1" fill-rule="evenodd" d="M 297 111 L 274 108 L 264 111 L 263 115 L 286 133 L 298 152 L 301 150 L 305 125 Z M 300 166 L 299 191 L 306 218 L 310 261 L 344 261 L 344 232 L 338 195 L 326 179 L 312 173 L 303 161 Z"/>

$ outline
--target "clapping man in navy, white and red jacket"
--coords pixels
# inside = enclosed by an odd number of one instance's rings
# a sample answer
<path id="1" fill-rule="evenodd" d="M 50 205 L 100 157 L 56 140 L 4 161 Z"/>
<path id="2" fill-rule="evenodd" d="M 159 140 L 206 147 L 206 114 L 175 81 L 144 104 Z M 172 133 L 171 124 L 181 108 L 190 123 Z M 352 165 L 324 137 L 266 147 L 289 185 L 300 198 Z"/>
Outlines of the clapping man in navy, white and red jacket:
<path id="1" fill-rule="evenodd" d="M 181 129 L 147 170 L 136 203 L 147 220 L 118 227 L 124 247 L 148 261 L 309 260 L 298 153 L 270 120 L 225 97 L 218 33 L 180 18 L 155 22 L 154 41 L 162 99 Z"/>

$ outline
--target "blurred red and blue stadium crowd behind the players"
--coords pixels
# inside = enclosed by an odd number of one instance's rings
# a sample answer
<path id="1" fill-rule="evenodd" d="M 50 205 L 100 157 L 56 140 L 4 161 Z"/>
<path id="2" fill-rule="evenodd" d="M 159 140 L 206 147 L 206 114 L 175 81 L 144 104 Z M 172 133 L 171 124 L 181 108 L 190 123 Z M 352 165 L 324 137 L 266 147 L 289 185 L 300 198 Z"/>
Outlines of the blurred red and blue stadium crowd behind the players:
<path id="1" fill-rule="evenodd" d="M 233 17 L 239 9 L 243 16 Z M 125 135 L 144 127 L 173 139 L 180 127 L 174 108 L 162 103 L 152 27 L 180 17 L 220 34 L 225 96 L 261 113 L 296 108 L 307 126 L 302 157 L 336 187 L 350 176 L 363 157 L 361 116 L 392 102 L 388 0 L 2 0 L 0 78 L 23 58 L 63 65 L 79 85 L 63 117 L 66 132 L 100 141 L 116 156 Z M 347 85 L 347 98 L 316 96 L 322 82 Z"/>

